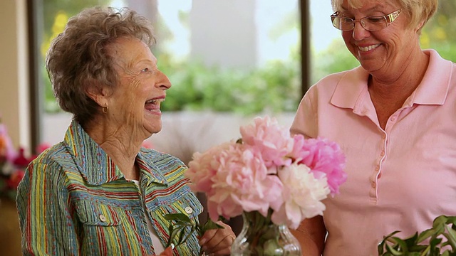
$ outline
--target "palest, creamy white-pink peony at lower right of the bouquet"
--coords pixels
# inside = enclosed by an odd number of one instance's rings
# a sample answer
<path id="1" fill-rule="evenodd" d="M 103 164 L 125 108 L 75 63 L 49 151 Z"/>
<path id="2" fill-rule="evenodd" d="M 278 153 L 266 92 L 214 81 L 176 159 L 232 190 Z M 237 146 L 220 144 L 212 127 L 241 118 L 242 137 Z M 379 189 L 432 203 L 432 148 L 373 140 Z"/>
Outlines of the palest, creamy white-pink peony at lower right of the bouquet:
<path id="1" fill-rule="evenodd" d="M 330 192 L 326 178 L 315 178 L 304 164 L 291 164 L 281 169 L 278 176 L 286 186 L 282 191 L 284 204 L 274 210 L 271 220 L 290 228 L 298 228 L 304 218 L 322 215 L 325 205 L 321 202 Z"/>

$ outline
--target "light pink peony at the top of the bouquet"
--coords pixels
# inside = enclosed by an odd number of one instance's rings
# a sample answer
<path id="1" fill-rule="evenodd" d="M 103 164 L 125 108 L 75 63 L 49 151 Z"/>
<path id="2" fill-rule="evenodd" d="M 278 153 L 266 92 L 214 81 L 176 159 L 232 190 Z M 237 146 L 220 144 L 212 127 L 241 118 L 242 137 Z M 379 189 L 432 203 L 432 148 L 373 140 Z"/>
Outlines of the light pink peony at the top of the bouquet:
<path id="1" fill-rule="evenodd" d="M 275 118 L 257 117 L 254 122 L 254 125 L 240 128 L 242 142 L 257 148 L 268 168 L 290 165 L 291 159 L 286 155 L 293 149 L 294 142 L 289 130 L 280 127 Z"/>

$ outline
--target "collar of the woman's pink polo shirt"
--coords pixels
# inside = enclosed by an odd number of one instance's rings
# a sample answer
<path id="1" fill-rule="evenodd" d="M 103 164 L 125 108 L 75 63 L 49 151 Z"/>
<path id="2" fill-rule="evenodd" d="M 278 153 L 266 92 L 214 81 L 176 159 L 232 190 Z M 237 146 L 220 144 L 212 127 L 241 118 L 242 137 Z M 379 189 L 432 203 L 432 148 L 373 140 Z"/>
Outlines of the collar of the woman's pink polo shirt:
<path id="1" fill-rule="evenodd" d="M 405 101 L 405 107 L 413 104 L 443 105 L 447 98 L 452 76 L 452 62 L 445 60 L 435 50 L 423 50 L 430 56 L 429 65 L 423 80 Z M 343 73 L 331 97 L 331 104 L 336 107 L 351 108 L 363 104 L 368 96 L 369 73 L 361 66 Z"/>

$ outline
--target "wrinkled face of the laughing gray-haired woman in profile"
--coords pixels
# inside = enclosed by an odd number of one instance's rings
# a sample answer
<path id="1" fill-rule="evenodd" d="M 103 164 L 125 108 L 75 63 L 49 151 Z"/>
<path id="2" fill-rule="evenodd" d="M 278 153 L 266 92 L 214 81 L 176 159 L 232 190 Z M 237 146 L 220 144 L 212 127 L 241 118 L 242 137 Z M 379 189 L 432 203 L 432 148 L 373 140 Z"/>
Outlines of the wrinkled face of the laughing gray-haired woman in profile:
<path id="1" fill-rule="evenodd" d="M 119 38 L 108 53 L 113 56 L 119 83 L 108 97 L 110 123 L 140 139 L 160 132 L 160 102 L 171 83 L 157 69 L 157 59 L 137 38 Z"/>

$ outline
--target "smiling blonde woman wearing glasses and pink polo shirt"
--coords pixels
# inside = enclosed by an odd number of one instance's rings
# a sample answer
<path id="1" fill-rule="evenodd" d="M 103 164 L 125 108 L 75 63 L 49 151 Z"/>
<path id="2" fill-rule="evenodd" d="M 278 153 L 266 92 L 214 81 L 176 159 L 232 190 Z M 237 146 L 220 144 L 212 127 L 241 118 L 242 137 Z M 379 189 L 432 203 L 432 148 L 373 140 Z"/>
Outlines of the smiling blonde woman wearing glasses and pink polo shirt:
<path id="1" fill-rule="evenodd" d="M 348 178 L 294 235 L 306 255 L 378 255 L 456 215 L 456 65 L 420 48 L 437 0 L 332 0 L 331 20 L 361 64 L 306 92 L 291 132 L 341 145 Z"/>

